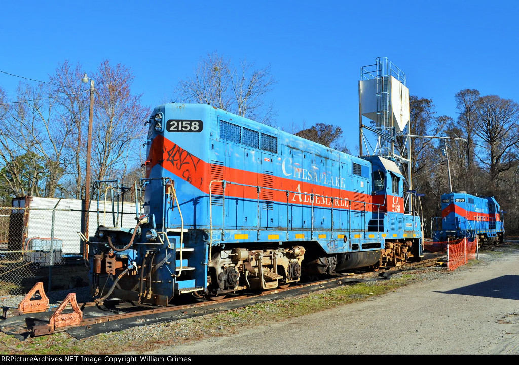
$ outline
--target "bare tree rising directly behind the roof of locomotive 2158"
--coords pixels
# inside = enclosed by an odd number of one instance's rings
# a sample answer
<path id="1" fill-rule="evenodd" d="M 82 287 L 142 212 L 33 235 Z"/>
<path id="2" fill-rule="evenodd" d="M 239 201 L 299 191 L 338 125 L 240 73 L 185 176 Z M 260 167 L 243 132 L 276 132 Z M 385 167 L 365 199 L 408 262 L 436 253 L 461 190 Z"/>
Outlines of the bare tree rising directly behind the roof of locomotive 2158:
<path id="1" fill-rule="evenodd" d="M 234 67 L 215 51 L 200 60 L 192 77 L 180 80 L 177 90 L 184 102 L 210 104 L 270 124 L 275 113 L 272 104 L 265 105 L 265 95 L 275 83 L 270 66 L 256 68 L 242 60 Z"/>

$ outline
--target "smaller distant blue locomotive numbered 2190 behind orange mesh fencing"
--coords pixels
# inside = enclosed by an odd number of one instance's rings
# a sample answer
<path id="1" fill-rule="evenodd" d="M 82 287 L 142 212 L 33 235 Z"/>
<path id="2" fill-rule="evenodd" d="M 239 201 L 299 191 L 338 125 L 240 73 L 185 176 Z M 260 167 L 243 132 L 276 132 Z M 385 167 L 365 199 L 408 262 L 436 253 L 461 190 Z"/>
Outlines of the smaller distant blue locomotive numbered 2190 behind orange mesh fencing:
<path id="1" fill-rule="evenodd" d="M 502 211 L 494 197 L 467 192 L 442 194 L 441 229 L 433 232 L 435 242 L 478 238 L 481 245 L 501 244 L 504 235 Z M 439 218 L 438 218 L 439 219 Z"/>

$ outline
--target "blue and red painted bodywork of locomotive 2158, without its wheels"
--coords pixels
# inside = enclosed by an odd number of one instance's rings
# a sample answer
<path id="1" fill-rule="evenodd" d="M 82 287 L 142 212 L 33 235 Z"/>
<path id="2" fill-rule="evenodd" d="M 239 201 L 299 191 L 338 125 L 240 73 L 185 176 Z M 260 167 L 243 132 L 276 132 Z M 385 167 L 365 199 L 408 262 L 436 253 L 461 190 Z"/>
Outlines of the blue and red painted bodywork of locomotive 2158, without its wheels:
<path id="1" fill-rule="evenodd" d="M 149 177 L 175 182 L 186 228 L 207 231 L 212 226 L 213 246 L 314 240 L 326 254 L 332 254 L 380 250 L 387 238 L 421 237 L 417 217 L 380 212 L 384 202 L 364 205 L 372 193 L 370 160 L 378 157 L 354 157 L 208 105 L 166 104 L 153 114 L 158 112 L 163 113 L 165 123 L 170 119 L 203 122 L 202 130 L 189 133 L 176 129 L 155 133 L 150 127 L 152 144 L 157 134 L 172 142 L 165 152 L 180 171 L 157 164 Z M 393 174 L 399 178 L 402 198 L 400 172 L 390 174 L 381 163 L 378 167 L 384 169 L 387 180 L 380 195 L 396 196 L 391 192 Z M 220 183 L 213 183 L 210 207 L 208 180 L 226 181 L 223 204 Z M 152 189 L 146 188 L 150 207 L 146 213 L 155 214 L 160 222 L 162 187 L 160 181 L 151 184 Z M 255 186 L 263 191 L 260 209 Z M 239 195 L 231 193 L 233 188 Z M 169 209 L 166 226 L 179 227 L 180 223 L 180 215 Z"/>

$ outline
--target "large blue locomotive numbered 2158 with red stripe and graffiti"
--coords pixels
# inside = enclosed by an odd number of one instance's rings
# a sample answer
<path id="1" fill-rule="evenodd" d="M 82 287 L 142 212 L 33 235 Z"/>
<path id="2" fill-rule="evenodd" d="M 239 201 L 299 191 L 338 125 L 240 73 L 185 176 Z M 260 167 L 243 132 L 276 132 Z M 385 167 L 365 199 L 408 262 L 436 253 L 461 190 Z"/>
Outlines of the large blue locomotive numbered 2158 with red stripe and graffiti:
<path id="1" fill-rule="evenodd" d="M 136 226 L 100 226 L 90 242 L 98 301 L 167 305 L 422 255 L 393 161 L 203 104 L 158 106 L 147 123 Z"/>

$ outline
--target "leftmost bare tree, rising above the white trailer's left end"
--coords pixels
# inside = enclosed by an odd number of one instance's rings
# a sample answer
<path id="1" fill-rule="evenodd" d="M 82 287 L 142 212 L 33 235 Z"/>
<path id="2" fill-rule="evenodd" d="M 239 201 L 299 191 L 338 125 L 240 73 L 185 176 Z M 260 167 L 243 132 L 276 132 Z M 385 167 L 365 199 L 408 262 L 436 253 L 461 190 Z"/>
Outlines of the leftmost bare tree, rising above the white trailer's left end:
<path id="1" fill-rule="evenodd" d="M 1 157 L 12 192 L 52 197 L 70 161 L 65 144 L 71 126 L 56 118 L 47 86 L 20 84 L 17 93 L 17 102 L 4 116 L 5 128 L 0 131 Z"/>

